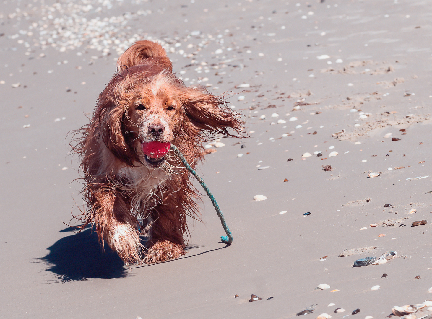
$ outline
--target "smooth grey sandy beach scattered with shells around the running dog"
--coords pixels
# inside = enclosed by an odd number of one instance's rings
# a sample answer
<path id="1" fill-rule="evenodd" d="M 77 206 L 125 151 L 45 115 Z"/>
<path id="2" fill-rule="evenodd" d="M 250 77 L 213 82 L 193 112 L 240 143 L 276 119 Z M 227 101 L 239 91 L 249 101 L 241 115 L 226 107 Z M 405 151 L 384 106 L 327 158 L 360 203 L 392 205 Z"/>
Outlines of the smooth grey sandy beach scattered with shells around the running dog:
<path id="1" fill-rule="evenodd" d="M 432 300 L 431 17 L 431 0 L 3 1 L 0 317 L 273 319 L 316 304 L 306 319 L 378 319 Z M 234 243 L 202 192 L 187 254 L 129 269 L 68 226 L 83 205 L 69 142 L 143 39 L 185 85 L 227 95 L 250 137 L 207 146 L 198 168 Z"/>

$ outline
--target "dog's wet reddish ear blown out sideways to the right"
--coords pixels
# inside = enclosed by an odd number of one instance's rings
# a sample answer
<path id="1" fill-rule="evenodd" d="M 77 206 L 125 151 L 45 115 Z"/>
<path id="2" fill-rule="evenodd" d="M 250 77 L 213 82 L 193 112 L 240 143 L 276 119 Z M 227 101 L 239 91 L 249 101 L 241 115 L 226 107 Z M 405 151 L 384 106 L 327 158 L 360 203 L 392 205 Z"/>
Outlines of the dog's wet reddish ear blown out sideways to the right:
<path id="1" fill-rule="evenodd" d="M 226 136 L 241 136 L 245 124 L 240 114 L 226 106 L 226 101 L 210 94 L 205 88 L 186 88 L 182 103 L 186 117 L 199 131 Z M 228 132 L 233 129 L 237 134 Z"/>

